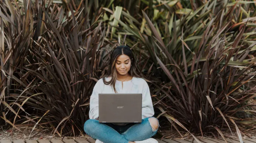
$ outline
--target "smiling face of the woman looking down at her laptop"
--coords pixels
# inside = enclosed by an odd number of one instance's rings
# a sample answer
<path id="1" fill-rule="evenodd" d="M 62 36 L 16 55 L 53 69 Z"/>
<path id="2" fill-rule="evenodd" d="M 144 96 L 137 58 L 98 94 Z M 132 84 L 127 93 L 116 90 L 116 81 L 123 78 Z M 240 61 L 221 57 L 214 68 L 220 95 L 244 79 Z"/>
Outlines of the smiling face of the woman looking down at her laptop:
<path id="1" fill-rule="evenodd" d="M 120 55 L 116 58 L 115 62 L 116 72 L 120 75 L 128 74 L 131 68 L 131 59 L 127 55 Z"/>

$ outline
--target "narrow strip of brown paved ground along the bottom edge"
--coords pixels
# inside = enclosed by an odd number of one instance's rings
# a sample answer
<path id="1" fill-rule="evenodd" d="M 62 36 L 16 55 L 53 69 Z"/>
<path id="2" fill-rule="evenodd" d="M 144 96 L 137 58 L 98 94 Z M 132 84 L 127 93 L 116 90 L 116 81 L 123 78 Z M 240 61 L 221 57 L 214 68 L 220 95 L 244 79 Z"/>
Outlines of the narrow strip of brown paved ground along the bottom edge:
<path id="1" fill-rule="evenodd" d="M 202 143 L 225 143 L 221 139 L 200 139 Z M 159 143 L 197 143 L 195 139 L 158 139 Z M 240 143 L 239 139 L 227 139 L 228 143 Z M 256 139 L 243 139 L 244 143 L 256 143 Z M 95 143 L 93 139 L 39 139 L 39 140 L 0 140 L 0 143 Z"/>

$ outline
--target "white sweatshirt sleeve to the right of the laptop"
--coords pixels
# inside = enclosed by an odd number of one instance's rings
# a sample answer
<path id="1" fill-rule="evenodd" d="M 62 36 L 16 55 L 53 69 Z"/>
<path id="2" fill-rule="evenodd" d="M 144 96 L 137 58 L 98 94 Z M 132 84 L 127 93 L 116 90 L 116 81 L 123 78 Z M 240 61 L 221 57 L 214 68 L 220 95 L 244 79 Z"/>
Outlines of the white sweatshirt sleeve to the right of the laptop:
<path id="1" fill-rule="evenodd" d="M 144 80 L 142 90 L 142 119 L 154 116 L 154 108 L 150 95 L 150 89 L 147 82 Z"/>

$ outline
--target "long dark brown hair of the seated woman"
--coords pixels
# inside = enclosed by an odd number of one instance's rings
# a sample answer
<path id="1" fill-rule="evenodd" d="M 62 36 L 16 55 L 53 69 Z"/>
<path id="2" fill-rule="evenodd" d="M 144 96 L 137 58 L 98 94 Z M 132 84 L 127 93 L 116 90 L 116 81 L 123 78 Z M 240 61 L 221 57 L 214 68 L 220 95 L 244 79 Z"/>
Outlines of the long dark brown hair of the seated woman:
<path id="1" fill-rule="evenodd" d="M 110 85 L 112 87 L 112 89 L 114 89 L 115 93 L 117 93 L 116 91 L 116 87 L 115 87 L 115 83 L 116 83 L 116 79 L 117 79 L 117 73 L 116 73 L 116 67 L 115 67 L 115 62 L 118 56 L 120 55 L 127 55 L 128 57 L 130 57 L 131 60 L 131 67 L 130 70 L 128 71 L 128 73 L 132 76 L 132 77 L 140 77 L 137 73 L 136 73 L 136 65 L 135 65 L 135 60 L 134 60 L 134 56 L 133 56 L 133 52 L 132 50 L 130 50 L 130 48 L 128 46 L 117 46 L 111 53 L 110 55 L 110 61 L 109 61 L 109 66 L 108 66 L 108 70 L 106 72 L 106 74 L 103 75 L 103 82 L 105 85 Z M 106 77 L 112 77 L 110 81 L 106 81 Z"/>

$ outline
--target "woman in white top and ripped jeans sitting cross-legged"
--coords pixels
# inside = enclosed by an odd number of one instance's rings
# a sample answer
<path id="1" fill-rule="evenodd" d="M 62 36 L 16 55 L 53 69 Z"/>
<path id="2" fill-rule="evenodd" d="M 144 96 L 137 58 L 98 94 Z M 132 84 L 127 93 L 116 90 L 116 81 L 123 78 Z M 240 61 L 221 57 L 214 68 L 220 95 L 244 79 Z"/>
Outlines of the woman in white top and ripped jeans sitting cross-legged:
<path id="1" fill-rule="evenodd" d="M 84 124 L 87 135 L 96 143 L 158 143 L 150 138 L 158 131 L 158 119 L 147 82 L 135 72 L 135 60 L 127 46 L 118 46 L 110 56 L 108 72 L 99 79 L 90 98 L 89 120 Z M 99 123 L 99 93 L 142 93 L 141 123 Z"/>

